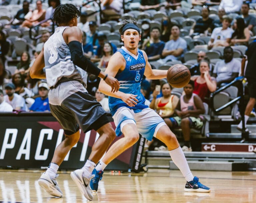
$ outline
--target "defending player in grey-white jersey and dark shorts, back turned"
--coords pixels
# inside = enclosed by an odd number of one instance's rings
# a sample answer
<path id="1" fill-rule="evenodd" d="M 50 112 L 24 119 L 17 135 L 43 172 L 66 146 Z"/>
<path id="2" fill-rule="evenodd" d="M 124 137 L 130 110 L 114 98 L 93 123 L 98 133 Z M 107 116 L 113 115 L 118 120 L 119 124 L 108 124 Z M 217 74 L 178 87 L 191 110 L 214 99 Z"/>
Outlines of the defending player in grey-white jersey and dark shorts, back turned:
<path id="1" fill-rule="evenodd" d="M 51 113 L 59 121 L 65 133 L 65 139 L 55 149 L 50 166 L 41 175 L 38 183 L 49 194 L 62 197 L 63 194 L 56 182 L 59 165 L 78 142 L 79 126 L 84 132 L 94 129 L 100 136 L 92 147 L 89 159 L 81 169 L 71 172 L 71 177 L 80 192 L 88 200 L 92 200 L 89 187 L 90 179 L 94 177 L 92 171 L 95 163 L 100 160 L 115 138 L 115 131 L 101 104 L 88 94 L 83 84 L 85 82 L 83 76 L 87 71 L 103 78 L 110 85 L 112 92 L 118 91 L 119 82 L 102 72 L 83 55 L 82 32 L 77 27 L 79 15 L 79 10 L 72 4 L 64 4 L 56 8 L 53 19 L 59 27 L 45 42 L 43 50 L 31 68 L 30 75 L 32 78 L 46 77 L 50 87 Z"/>

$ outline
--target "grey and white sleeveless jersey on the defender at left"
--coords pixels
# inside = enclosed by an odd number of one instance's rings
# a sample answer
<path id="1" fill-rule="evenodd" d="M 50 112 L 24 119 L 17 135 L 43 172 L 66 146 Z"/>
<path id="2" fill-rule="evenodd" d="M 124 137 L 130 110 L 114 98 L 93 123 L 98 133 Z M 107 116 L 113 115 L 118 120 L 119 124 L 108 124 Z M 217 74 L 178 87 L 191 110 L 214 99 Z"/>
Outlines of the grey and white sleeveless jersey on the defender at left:
<path id="1" fill-rule="evenodd" d="M 67 27 L 57 27 L 44 43 L 44 63 L 47 84 L 54 87 L 62 78 L 72 78 L 86 85 L 87 73 L 71 61 L 71 53 L 62 33 Z M 82 44 L 81 44 L 82 46 Z"/>

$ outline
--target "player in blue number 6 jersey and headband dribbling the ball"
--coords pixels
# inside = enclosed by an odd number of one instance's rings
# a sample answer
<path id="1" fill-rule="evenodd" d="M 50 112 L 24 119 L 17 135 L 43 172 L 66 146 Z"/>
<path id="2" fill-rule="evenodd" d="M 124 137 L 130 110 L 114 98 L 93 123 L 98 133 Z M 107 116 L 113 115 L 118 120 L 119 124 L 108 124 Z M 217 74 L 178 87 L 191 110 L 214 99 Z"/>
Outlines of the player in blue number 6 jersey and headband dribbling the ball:
<path id="1" fill-rule="evenodd" d="M 185 191 L 210 192 L 210 188 L 192 175 L 174 133 L 154 110 L 144 104 L 145 98 L 140 92 L 143 74 L 148 79 L 162 79 L 166 78 L 167 70 L 152 70 L 146 53 L 138 49 L 141 35 L 135 20 L 125 21 L 119 32 L 124 46 L 110 58 L 105 73 L 118 79 L 120 89 L 118 92 L 111 92 L 111 88 L 101 80 L 99 90 L 109 95 L 109 108 L 117 126 L 116 134 L 120 136 L 123 133 L 124 137 L 109 148 L 93 170 L 95 177 L 90 182 L 92 191 L 97 191 L 98 182 L 107 164 L 136 143 L 140 133 L 148 140 L 152 140 L 154 136 L 166 144 L 173 162 L 187 181 Z"/>

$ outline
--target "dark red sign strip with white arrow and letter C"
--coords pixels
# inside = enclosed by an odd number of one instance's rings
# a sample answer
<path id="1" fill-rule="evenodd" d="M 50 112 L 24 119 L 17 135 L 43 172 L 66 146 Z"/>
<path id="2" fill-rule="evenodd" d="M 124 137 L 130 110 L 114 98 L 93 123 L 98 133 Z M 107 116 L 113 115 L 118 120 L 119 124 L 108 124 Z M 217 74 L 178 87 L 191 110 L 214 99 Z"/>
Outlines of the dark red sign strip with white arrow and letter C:
<path id="1" fill-rule="evenodd" d="M 205 143 L 201 145 L 202 152 L 253 152 L 256 143 Z"/>

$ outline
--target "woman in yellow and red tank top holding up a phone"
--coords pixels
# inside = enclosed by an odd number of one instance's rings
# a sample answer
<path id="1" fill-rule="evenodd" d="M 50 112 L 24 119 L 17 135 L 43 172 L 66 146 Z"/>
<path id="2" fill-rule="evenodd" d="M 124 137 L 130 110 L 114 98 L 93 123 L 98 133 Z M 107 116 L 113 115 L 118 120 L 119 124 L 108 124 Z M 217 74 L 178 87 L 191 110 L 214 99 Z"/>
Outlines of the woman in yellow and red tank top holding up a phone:
<path id="1" fill-rule="evenodd" d="M 169 83 L 163 84 L 161 90 L 163 96 L 159 98 L 157 98 L 157 95 L 159 95 L 160 92 L 156 89 L 154 90 L 153 99 L 149 107 L 156 110 L 159 116 L 166 121 L 166 119 L 169 119 L 174 114 L 179 98 L 171 94 L 172 87 Z"/>

